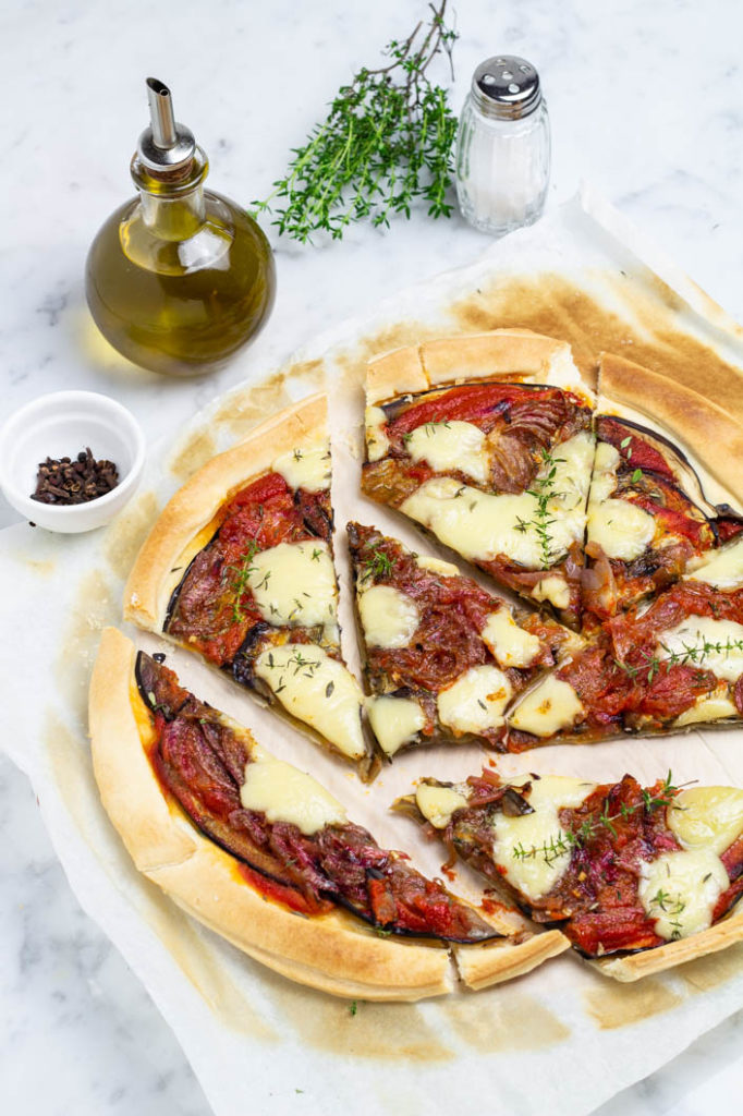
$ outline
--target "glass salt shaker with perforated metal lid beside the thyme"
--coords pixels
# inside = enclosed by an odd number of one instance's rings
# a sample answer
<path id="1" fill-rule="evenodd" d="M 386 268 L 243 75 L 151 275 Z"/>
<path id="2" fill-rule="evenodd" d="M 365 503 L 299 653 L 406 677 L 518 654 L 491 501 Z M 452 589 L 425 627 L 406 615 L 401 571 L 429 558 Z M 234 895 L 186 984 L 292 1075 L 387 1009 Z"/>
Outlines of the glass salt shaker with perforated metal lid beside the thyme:
<path id="1" fill-rule="evenodd" d="M 456 140 L 462 214 L 502 237 L 532 224 L 550 179 L 550 122 L 539 74 L 523 58 L 496 55 L 477 66 Z"/>

